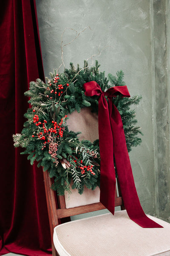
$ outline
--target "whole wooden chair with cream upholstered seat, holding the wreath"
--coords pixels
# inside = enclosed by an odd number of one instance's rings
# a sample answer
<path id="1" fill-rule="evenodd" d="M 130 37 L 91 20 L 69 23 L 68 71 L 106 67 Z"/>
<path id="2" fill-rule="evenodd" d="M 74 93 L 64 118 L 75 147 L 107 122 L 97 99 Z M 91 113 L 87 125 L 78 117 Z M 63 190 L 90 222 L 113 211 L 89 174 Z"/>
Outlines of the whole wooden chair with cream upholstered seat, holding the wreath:
<path id="1" fill-rule="evenodd" d="M 164 228 L 142 228 L 130 220 L 123 205 L 118 180 L 115 207 L 120 206 L 121 210 L 116 211 L 115 215 L 105 213 L 59 224 L 61 218 L 105 207 L 99 203 L 99 189 L 94 195 L 86 189 L 84 194 L 88 196 L 84 199 L 75 190 L 69 196 L 65 194 L 56 198 L 56 193 L 50 189 L 52 179 L 47 171 L 43 175 L 53 256 L 170 256 L 170 224 L 149 216 Z M 95 193 L 98 193 L 98 202 L 93 203 L 91 199 L 96 200 Z"/>

